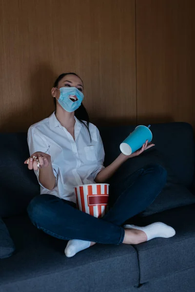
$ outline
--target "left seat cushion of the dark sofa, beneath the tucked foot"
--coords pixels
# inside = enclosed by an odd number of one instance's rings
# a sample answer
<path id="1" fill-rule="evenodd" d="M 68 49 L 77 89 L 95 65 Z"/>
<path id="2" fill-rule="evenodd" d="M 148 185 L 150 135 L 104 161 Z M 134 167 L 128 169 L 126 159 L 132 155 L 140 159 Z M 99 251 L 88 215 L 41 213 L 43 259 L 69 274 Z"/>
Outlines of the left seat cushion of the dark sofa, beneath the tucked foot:
<path id="1" fill-rule="evenodd" d="M 1 260 L 0 291 L 40 292 L 45 283 L 47 291 L 61 292 L 125 291 L 138 285 L 137 252 L 130 245 L 97 244 L 67 258 L 66 241 L 44 234 L 27 216 L 5 222 L 17 253 Z"/>

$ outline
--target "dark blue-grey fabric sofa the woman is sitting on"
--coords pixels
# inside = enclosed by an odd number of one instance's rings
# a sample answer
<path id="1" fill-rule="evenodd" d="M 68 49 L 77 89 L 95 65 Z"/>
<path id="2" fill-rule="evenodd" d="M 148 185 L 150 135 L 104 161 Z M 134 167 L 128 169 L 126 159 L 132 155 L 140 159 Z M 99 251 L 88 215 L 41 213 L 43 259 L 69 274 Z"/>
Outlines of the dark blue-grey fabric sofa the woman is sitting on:
<path id="1" fill-rule="evenodd" d="M 105 164 L 117 157 L 133 128 L 100 128 Z M 23 165 L 26 133 L 0 134 L 0 216 L 16 246 L 12 256 L 0 259 L 0 292 L 195 292 L 193 130 L 186 123 L 152 125 L 151 130 L 156 147 L 118 171 L 160 163 L 168 170 L 167 185 L 130 222 L 162 221 L 176 229 L 176 236 L 135 246 L 97 244 L 73 258 L 64 256 L 65 241 L 37 230 L 26 214 L 28 202 L 39 194 L 34 173 Z"/>

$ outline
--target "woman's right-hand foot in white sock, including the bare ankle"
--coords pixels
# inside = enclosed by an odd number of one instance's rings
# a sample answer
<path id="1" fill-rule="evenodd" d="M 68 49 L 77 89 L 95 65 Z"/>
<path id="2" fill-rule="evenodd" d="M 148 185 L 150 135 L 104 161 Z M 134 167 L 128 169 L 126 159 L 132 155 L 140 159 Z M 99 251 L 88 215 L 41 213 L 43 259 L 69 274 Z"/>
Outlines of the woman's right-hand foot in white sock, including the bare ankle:
<path id="1" fill-rule="evenodd" d="M 125 237 L 123 243 L 138 244 L 156 237 L 169 238 L 176 234 L 174 228 L 162 222 L 155 222 L 145 227 L 124 225 Z M 134 233 L 137 231 L 138 233 Z M 136 243 L 135 243 L 136 242 Z"/>

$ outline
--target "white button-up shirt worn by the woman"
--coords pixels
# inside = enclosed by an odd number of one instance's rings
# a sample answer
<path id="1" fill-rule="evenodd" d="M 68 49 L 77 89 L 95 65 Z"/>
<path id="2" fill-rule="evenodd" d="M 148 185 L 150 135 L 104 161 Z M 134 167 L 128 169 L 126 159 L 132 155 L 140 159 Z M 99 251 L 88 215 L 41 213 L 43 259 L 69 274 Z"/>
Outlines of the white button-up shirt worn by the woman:
<path id="1" fill-rule="evenodd" d="M 28 130 L 30 155 L 37 151 L 49 154 L 56 177 L 55 188 L 48 190 L 40 184 L 40 193 L 74 202 L 74 187 L 95 183 L 98 172 L 104 168 L 104 148 L 98 128 L 89 124 L 90 140 L 85 125 L 76 117 L 75 121 L 75 140 L 60 125 L 55 113 Z M 35 173 L 39 181 L 39 170 Z"/>

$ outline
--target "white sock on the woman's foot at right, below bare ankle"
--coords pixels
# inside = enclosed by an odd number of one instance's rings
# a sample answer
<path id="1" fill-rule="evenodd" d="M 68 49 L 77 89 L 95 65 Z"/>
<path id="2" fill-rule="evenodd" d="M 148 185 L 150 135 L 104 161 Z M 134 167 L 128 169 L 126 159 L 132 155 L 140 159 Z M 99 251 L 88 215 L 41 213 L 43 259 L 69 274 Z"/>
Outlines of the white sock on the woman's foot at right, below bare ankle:
<path id="1" fill-rule="evenodd" d="M 176 234 L 176 231 L 174 228 L 162 222 L 156 222 L 145 227 L 139 227 L 136 225 L 129 225 L 129 224 L 124 225 L 123 227 L 127 229 L 131 229 L 131 228 L 138 229 L 145 232 L 147 236 L 147 241 L 156 237 L 168 238 Z"/>

